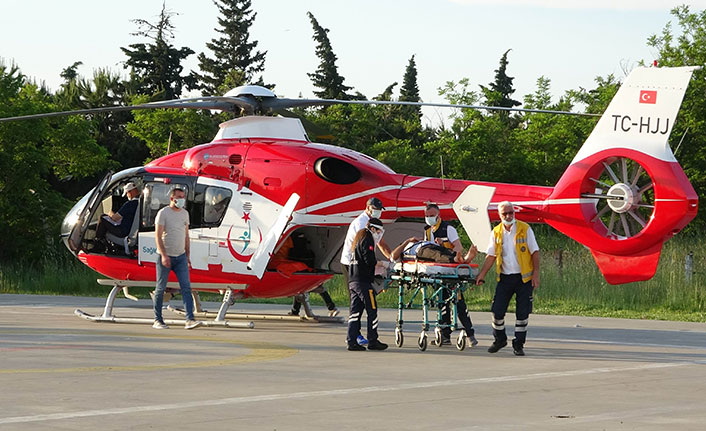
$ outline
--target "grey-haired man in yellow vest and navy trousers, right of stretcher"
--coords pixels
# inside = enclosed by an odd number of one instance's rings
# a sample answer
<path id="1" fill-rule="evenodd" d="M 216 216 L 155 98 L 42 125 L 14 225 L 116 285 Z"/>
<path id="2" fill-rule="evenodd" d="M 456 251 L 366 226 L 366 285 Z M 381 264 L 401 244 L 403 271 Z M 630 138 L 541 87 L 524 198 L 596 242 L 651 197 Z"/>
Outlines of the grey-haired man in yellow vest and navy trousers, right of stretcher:
<path id="1" fill-rule="evenodd" d="M 495 226 L 490 235 L 486 251 L 488 256 L 476 279 L 476 284 L 483 284 L 485 275 L 495 263 L 498 284 L 491 306 L 495 341 L 488 352 L 495 353 L 507 346 L 505 313 L 512 295 L 515 295 L 515 339 L 512 340 L 512 348 L 515 355 L 524 356 L 527 323 L 532 313 L 532 293 L 539 287 L 539 246 L 529 224 L 515 219 L 512 203 L 499 203 L 498 214 L 502 223 Z"/>

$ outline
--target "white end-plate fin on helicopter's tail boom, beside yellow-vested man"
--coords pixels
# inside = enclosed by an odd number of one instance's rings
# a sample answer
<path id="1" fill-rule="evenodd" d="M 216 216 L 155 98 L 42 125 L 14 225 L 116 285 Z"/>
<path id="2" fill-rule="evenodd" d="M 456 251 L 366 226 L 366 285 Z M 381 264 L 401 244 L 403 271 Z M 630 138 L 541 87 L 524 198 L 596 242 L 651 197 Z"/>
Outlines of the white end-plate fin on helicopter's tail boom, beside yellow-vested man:
<path id="1" fill-rule="evenodd" d="M 484 249 L 490 238 L 488 206 L 495 194 L 495 187 L 470 185 L 453 204 L 458 220 L 476 247 Z"/>

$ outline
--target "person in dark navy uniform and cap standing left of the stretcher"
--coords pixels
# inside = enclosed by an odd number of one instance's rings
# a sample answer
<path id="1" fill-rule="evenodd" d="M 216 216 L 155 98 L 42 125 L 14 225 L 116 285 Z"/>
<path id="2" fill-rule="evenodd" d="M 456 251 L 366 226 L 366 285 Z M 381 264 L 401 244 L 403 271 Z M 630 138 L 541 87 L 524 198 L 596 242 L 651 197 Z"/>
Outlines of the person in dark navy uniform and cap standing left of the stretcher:
<path id="1" fill-rule="evenodd" d="M 348 350 L 365 350 L 358 344 L 360 319 L 365 310 L 368 315 L 368 350 L 385 350 L 387 344 L 378 340 L 378 310 L 373 289 L 375 277 L 375 247 L 385 230 L 380 219 L 371 218 L 364 229 L 353 238 L 353 257 L 348 265 L 348 289 L 351 295 L 351 310 L 348 316 Z"/>

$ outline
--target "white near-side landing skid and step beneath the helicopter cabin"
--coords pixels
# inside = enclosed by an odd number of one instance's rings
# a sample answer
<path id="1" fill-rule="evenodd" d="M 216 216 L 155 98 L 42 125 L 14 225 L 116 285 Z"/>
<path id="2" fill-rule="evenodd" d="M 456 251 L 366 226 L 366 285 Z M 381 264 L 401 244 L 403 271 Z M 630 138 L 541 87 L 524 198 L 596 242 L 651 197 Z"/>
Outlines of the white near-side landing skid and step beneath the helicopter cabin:
<path id="1" fill-rule="evenodd" d="M 117 317 L 113 315 L 113 306 L 115 303 L 115 298 L 118 295 L 118 292 L 122 291 L 123 294 L 125 295 L 126 298 L 131 299 L 133 301 L 137 301 L 137 298 L 133 295 L 130 295 L 128 292 L 129 287 L 151 287 L 154 285 L 154 283 L 148 283 L 144 281 L 125 281 L 125 280 L 112 280 L 112 279 L 99 279 L 97 280 L 98 284 L 101 285 L 112 285 L 113 288 L 111 289 L 110 293 L 108 294 L 108 298 L 105 301 L 105 307 L 103 308 L 103 314 L 100 316 L 94 316 L 92 314 L 86 313 L 82 310 L 79 310 L 78 308 L 74 310 L 74 314 L 77 315 L 78 317 L 81 317 L 86 320 L 90 320 L 92 322 L 109 322 L 109 323 L 138 323 L 138 324 L 151 324 L 154 322 L 154 319 L 152 318 L 144 318 L 144 317 Z M 203 283 L 201 283 L 203 284 Z M 178 283 L 173 283 L 169 282 L 167 283 L 167 288 L 178 288 L 179 284 Z M 201 288 L 218 288 L 214 287 L 216 285 L 209 285 L 209 286 L 195 286 L 192 284 L 194 287 L 201 287 Z M 221 289 L 223 286 L 220 286 Z M 229 322 L 226 320 L 226 312 L 228 310 L 228 307 L 233 305 L 235 302 L 234 299 L 234 294 L 233 294 L 233 289 L 229 286 L 225 288 L 225 294 L 223 296 L 223 303 L 221 304 L 221 310 L 218 312 L 216 315 L 216 318 L 214 320 L 207 320 L 203 322 L 203 326 L 222 326 L 222 327 L 227 327 L 227 328 L 246 328 L 246 329 L 252 329 L 255 327 L 255 324 L 253 322 Z M 199 303 L 199 308 L 200 308 L 200 303 Z M 172 325 L 178 325 L 178 324 L 184 324 L 186 323 L 185 320 L 165 320 L 166 324 L 172 324 Z"/>

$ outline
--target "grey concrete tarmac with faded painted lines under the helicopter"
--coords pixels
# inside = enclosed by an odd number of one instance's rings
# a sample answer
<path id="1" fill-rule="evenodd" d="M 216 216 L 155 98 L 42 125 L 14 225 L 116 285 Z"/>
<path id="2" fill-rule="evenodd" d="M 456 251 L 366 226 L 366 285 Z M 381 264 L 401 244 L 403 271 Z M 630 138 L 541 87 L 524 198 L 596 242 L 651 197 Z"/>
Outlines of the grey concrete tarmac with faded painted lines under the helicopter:
<path id="1" fill-rule="evenodd" d="M 396 310 L 381 310 L 390 348 L 348 352 L 341 324 L 160 331 L 89 322 L 75 308 L 100 314 L 103 300 L 0 295 L 0 430 L 684 431 L 706 422 L 704 323 L 532 315 L 527 356 L 516 357 L 511 347 L 487 352 L 489 313 L 471 316 L 479 346 L 421 352 L 419 325 L 405 325 L 397 348 Z M 149 318 L 151 303 L 119 299 L 115 314 Z M 506 324 L 511 336 L 514 316 Z"/>

